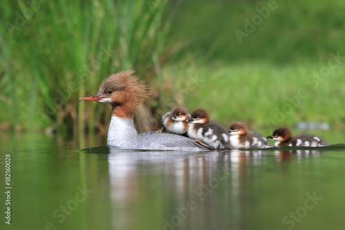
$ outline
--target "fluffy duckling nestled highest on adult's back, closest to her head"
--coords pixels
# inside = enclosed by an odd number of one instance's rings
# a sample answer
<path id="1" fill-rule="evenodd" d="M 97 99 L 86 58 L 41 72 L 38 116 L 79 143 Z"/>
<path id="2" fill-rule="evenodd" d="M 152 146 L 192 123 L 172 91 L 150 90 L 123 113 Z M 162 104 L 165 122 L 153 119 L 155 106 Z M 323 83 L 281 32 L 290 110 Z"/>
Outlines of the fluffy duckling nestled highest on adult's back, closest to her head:
<path id="1" fill-rule="evenodd" d="M 164 127 L 171 133 L 184 134 L 188 131 L 190 115 L 188 114 L 186 108 L 177 106 L 172 111 L 164 114 L 161 118 Z"/>

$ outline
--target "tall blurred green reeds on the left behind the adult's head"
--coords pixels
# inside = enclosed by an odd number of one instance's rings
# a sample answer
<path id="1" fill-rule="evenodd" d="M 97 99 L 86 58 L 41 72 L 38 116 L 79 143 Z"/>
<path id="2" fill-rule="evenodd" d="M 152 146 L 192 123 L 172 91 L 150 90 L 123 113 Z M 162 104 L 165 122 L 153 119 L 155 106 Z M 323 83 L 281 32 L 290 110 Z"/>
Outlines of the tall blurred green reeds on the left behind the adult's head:
<path id="1" fill-rule="evenodd" d="M 6 1 L 0 16 L 0 123 L 15 130 L 105 132 L 108 106 L 78 103 L 111 73 L 150 81 L 164 52 L 167 2 Z"/>

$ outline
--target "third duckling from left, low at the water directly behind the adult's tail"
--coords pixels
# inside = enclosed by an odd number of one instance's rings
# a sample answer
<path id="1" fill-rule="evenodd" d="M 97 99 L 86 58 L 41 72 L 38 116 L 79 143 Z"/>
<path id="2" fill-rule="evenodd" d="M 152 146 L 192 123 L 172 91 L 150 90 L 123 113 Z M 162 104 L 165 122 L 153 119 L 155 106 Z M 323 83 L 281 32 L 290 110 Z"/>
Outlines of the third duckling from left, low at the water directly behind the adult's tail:
<path id="1" fill-rule="evenodd" d="M 272 144 L 261 135 L 254 131 L 248 131 L 243 122 L 233 122 L 230 124 L 230 145 L 233 148 L 269 148 Z"/>

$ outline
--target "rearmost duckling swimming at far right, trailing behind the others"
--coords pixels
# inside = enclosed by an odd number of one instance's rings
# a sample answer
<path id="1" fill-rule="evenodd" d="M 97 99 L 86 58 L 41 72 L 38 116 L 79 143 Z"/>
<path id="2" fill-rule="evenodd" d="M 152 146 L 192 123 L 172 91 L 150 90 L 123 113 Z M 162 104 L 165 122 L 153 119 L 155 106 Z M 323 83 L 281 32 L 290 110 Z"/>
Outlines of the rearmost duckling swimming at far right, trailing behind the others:
<path id="1" fill-rule="evenodd" d="M 300 134 L 293 137 L 293 134 L 288 128 L 277 128 L 273 131 L 273 135 L 270 135 L 266 138 L 272 138 L 276 140 L 276 147 L 284 146 L 328 146 L 325 140 L 322 138 L 316 137 L 314 135 Z"/>

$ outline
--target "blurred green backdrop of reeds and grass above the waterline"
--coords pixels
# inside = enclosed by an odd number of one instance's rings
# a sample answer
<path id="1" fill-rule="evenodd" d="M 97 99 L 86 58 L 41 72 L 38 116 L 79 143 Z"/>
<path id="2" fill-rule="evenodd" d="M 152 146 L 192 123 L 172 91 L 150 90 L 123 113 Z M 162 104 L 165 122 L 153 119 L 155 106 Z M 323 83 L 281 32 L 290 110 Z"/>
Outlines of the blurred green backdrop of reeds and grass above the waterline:
<path id="1" fill-rule="evenodd" d="M 110 106 L 78 103 L 111 73 L 152 87 L 136 114 L 180 105 L 228 126 L 345 128 L 345 1 L 3 1 L 0 130 L 106 135 Z"/>

